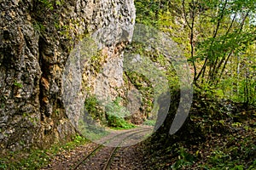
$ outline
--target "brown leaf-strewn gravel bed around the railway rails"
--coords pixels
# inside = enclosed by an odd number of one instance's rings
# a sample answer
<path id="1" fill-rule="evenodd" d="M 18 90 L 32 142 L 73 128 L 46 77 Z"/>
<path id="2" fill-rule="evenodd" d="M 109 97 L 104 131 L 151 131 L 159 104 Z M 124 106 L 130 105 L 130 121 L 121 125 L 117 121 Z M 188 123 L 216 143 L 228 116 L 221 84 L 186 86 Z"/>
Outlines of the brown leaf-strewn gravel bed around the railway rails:
<path id="1" fill-rule="evenodd" d="M 129 130 L 125 130 L 123 132 L 129 132 Z M 125 145 L 125 142 L 128 144 L 129 142 L 137 141 L 137 139 L 142 138 L 146 133 L 148 132 L 143 131 L 136 135 L 134 135 L 134 132 L 126 133 L 125 138 L 123 137 L 123 139 L 125 139 L 123 145 Z M 42 168 L 42 170 L 73 169 L 73 167 L 75 167 L 77 163 L 84 158 L 84 156 L 87 156 L 98 145 L 99 144 L 95 143 L 87 143 L 70 151 L 63 150 L 50 161 L 47 167 Z M 90 156 L 89 159 L 83 161 L 77 169 L 102 170 L 112 150 L 113 147 L 103 146 L 100 150 L 97 150 L 96 153 Z M 111 160 L 112 161 L 108 169 L 146 169 L 142 165 L 143 147 L 140 143 L 126 147 L 119 147 Z"/>

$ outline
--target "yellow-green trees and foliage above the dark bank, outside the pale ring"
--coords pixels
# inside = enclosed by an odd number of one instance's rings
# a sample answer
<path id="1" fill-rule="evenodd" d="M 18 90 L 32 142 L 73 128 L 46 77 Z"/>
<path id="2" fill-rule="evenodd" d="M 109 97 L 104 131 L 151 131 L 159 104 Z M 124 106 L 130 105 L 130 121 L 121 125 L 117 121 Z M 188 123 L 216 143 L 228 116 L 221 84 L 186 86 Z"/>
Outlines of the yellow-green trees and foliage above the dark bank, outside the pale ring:
<path id="1" fill-rule="evenodd" d="M 168 33 L 183 48 L 201 92 L 210 90 L 220 98 L 255 104 L 253 0 L 137 0 L 135 4 L 138 23 Z"/>

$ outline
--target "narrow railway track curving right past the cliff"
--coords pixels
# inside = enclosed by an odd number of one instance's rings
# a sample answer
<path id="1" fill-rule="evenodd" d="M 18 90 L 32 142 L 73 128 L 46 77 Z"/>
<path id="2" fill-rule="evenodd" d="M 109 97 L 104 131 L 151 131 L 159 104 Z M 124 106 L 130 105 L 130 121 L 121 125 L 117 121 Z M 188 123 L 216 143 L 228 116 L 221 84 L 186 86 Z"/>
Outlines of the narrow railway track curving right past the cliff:
<path id="1" fill-rule="evenodd" d="M 120 148 L 120 145 L 122 143 L 125 142 L 126 139 L 130 138 L 131 136 L 133 135 L 136 135 L 138 133 L 144 133 L 144 132 L 147 132 L 149 130 L 152 130 L 150 127 L 145 127 L 145 128 L 141 128 L 141 129 L 136 129 L 136 130 L 131 130 L 131 131 L 128 131 L 128 132 L 125 132 L 125 133 L 119 133 L 115 136 L 113 136 L 111 139 L 107 139 L 105 140 L 104 142 L 102 142 L 102 144 L 98 144 L 92 151 L 90 151 L 89 154 L 87 154 L 86 156 L 84 156 L 83 159 L 81 159 L 72 169 L 75 170 L 75 169 L 79 169 L 79 167 L 82 167 L 85 165 L 85 163 L 87 161 L 90 161 L 90 158 L 93 159 L 95 156 L 97 156 L 97 153 L 98 152 L 102 152 L 103 155 L 101 154 L 98 154 L 100 156 L 99 159 L 102 160 L 102 156 L 104 157 L 105 156 L 105 160 L 101 166 L 98 166 L 98 167 L 87 167 L 87 168 L 81 168 L 81 169 L 102 169 L 102 170 L 107 170 L 108 167 L 110 167 L 111 165 L 111 161 L 113 159 L 113 157 L 115 156 L 115 153 L 119 150 Z M 131 134 L 129 134 L 131 133 Z M 125 134 L 128 134 L 125 136 L 124 139 L 121 139 L 118 144 L 116 144 L 117 146 L 115 147 L 108 147 L 108 146 L 104 146 L 104 144 L 108 144 L 109 142 L 113 141 L 113 139 L 116 139 L 122 135 L 125 135 Z M 107 153 L 107 154 L 106 154 Z M 99 161 L 95 161 L 96 163 L 100 163 Z"/>

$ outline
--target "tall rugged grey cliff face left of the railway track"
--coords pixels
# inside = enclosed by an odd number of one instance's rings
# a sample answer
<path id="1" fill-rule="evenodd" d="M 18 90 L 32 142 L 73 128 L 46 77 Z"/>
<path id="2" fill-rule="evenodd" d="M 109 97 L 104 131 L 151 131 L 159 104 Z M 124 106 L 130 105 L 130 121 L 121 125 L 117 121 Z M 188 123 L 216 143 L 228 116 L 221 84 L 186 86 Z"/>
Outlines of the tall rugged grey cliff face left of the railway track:
<path id="1" fill-rule="evenodd" d="M 67 118 L 61 88 L 68 56 L 84 34 L 105 26 L 122 28 L 124 41 L 129 40 L 135 20 L 133 1 L 0 2 L 1 152 L 46 148 L 70 140 L 75 129 Z M 102 73 L 108 77 L 99 76 L 99 80 L 108 82 L 110 88 L 122 85 L 121 70 L 113 71 L 121 69 L 122 63 L 114 55 L 117 42 L 113 37 L 101 44 L 108 46 Z"/>

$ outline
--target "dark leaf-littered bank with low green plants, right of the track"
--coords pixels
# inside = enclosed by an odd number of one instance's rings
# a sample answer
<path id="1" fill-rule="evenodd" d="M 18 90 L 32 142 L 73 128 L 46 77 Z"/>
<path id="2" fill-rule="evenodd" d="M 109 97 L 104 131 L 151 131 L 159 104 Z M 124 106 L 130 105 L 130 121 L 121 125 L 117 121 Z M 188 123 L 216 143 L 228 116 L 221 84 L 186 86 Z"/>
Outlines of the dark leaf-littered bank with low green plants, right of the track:
<path id="1" fill-rule="evenodd" d="M 213 114 L 204 107 L 192 109 L 193 129 L 185 130 L 194 132 L 165 138 L 170 144 L 157 135 L 146 141 L 144 164 L 148 169 L 256 169 L 256 109 L 232 107 Z"/>

